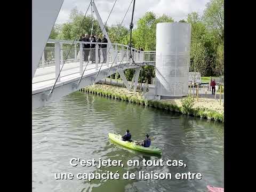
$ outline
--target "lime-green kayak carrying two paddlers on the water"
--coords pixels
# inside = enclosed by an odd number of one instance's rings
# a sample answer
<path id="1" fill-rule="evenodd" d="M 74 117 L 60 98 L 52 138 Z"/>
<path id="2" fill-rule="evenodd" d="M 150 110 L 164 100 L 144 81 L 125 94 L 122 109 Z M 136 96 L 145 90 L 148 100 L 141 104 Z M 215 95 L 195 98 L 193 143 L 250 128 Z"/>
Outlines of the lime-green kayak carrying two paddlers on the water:
<path id="1" fill-rule="evenodd" d="M 150 153 L 150 154 L 157 154 L 157 155 L 162 154 L 162 150 L 158 149 L 156 147 L 142 147 L 140 145 L 136 145 L 135 144 L 136 141 L 134 141 L 134 140 L 132 140 L 132 142 L 123 141 L 122 136 L 119 134 L 108 133 L 108 137 L 109 137 L 109 139 L 118 143 L 119 145 L 122 145 L 122 146 L 130 148 L 130 149 L 134 149 L 134 150 L 138 150 L 138 151 L 142 151 L 144 153 Z"/>

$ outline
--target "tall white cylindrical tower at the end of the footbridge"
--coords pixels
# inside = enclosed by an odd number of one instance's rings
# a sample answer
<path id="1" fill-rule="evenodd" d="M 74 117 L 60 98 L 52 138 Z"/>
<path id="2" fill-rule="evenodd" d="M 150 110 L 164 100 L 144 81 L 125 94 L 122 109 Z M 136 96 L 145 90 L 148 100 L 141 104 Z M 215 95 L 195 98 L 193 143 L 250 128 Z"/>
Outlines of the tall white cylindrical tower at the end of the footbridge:
<path id="1" fill-rule="evenodd" d="M 157 23 L 157 95 L 181 97 L 188 94 L 190 38 L 190 23 Z"/>

